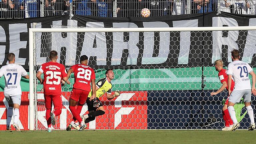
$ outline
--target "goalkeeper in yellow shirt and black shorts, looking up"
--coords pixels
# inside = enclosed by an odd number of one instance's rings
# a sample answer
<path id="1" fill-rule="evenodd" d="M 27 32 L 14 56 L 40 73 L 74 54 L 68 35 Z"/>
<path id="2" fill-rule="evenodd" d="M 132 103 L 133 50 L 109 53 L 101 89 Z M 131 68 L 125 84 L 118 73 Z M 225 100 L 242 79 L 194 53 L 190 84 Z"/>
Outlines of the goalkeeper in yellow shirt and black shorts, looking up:
<path id="1" fill-rule="evenodd" d="M 108 100 L 111 100 L 120 95 L 120 91 L 118 90 L 115 91 L 113 95 L 111 94 L 111 89 L 112 89 L 111 80 L 114 79 L 113 69 L 108 69 L 105 75 L 106 75 L 105 78 L 100 79 L 96 83 L 96 97 L 94 98 L 92 96 L 92 90 L 88 95 L 86 103 L 88 106 L 89 113 L 86 115 L 83 115 L 85 119 L 84 120 L 85 123 L 95 120 L 96 116 L 105 114 L 104 107 L 102 106 L 102 103 L 100 102 L 99 97 L 107 93 Z"/>

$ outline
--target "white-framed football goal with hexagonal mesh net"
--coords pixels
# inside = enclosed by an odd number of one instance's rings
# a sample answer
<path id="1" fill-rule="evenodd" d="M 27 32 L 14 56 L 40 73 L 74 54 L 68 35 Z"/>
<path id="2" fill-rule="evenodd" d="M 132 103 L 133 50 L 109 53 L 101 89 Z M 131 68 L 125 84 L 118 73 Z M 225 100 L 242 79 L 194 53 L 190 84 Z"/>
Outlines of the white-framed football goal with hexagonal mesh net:
<path id="1" fill-rule="evenodd" d="M 106 113 L 87 129 L 219 129 L 224 127 L 221 87 L 214 61 L 227 67 L 233 48 L 241 60 L 255 67 L 255 27 L 190 28 L 34 28 L 30 29 L 30 129 L 47 128 L 42 88 L 35 74 L 58 52 L 58 62 L 68 70 L 87 55 L 96 81 L 114 69 L 112 91 L 121 95 L 100 97 Z M 225 68 L 224 67 L 224 68 Z M 62 87 L 62 113 L 54 129 L 66 129 L 72 120 L 68 108 L 71 85 Z M 33 93 L 33 94 L 32 94 Z M 254 104 L 252 96 L 252 103 Z M 243 102 L 236 104 L 240 128 L 249 126 Z M 80 115 L 87 112 L 83 106 Z"/>

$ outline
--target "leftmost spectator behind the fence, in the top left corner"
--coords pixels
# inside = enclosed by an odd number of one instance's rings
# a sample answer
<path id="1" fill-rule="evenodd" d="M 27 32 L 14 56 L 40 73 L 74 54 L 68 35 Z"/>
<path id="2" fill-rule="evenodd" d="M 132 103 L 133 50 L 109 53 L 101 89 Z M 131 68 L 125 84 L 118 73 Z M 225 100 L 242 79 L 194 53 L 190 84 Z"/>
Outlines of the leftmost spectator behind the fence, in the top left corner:
<path id="1" fill-rule="evenodd" d="M 14 18 L 12 13 L 13 11 L 14 11 L 14 4 L 11 0 L 0 1 L 0 17 L 1 18 Z"/>

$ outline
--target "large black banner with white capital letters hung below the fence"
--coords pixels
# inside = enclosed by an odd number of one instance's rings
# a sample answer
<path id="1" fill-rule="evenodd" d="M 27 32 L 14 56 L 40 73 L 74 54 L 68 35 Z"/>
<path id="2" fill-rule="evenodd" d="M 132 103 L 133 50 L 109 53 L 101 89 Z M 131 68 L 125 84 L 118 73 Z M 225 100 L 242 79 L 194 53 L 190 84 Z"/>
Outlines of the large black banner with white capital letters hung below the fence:
<path id="1" fill-rule="evenodd" d="M 101 18 L 68 15 L 0 21 L 0 64 L 13 52 L 16 63 L 28 68 L 28 29 L 68 27 L 203 27 L 256 26 L 256 17 L 216 12 L 149 18 Z M 66 66 L 78 62 L 80 55 L 90 58 L 94 68 L 172 68 L 212 66 L 216 59 L 227 65 L 230 51 L 239 49 L 241 59 L 256 66 L 256 31 L 211 32 L 106 32 L 38 33 L 36 60 L 46 62 L 48 52 L 57 50 L 59 62 Z M 68 56 L 68 57 L 67 57 Z"/>

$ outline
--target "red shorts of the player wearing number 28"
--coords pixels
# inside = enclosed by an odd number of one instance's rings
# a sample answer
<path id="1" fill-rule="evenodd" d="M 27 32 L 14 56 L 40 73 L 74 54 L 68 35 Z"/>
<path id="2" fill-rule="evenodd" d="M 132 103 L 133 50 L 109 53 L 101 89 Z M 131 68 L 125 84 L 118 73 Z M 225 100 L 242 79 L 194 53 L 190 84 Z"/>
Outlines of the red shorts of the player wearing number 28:
<path id="1" fill-rule="evenodd" d="M 74 101 L 79 101 L 80 104 L 84 104 L 89 95 L 88 91 L 80 89 L 72 89 L 70 99 Z"/>

